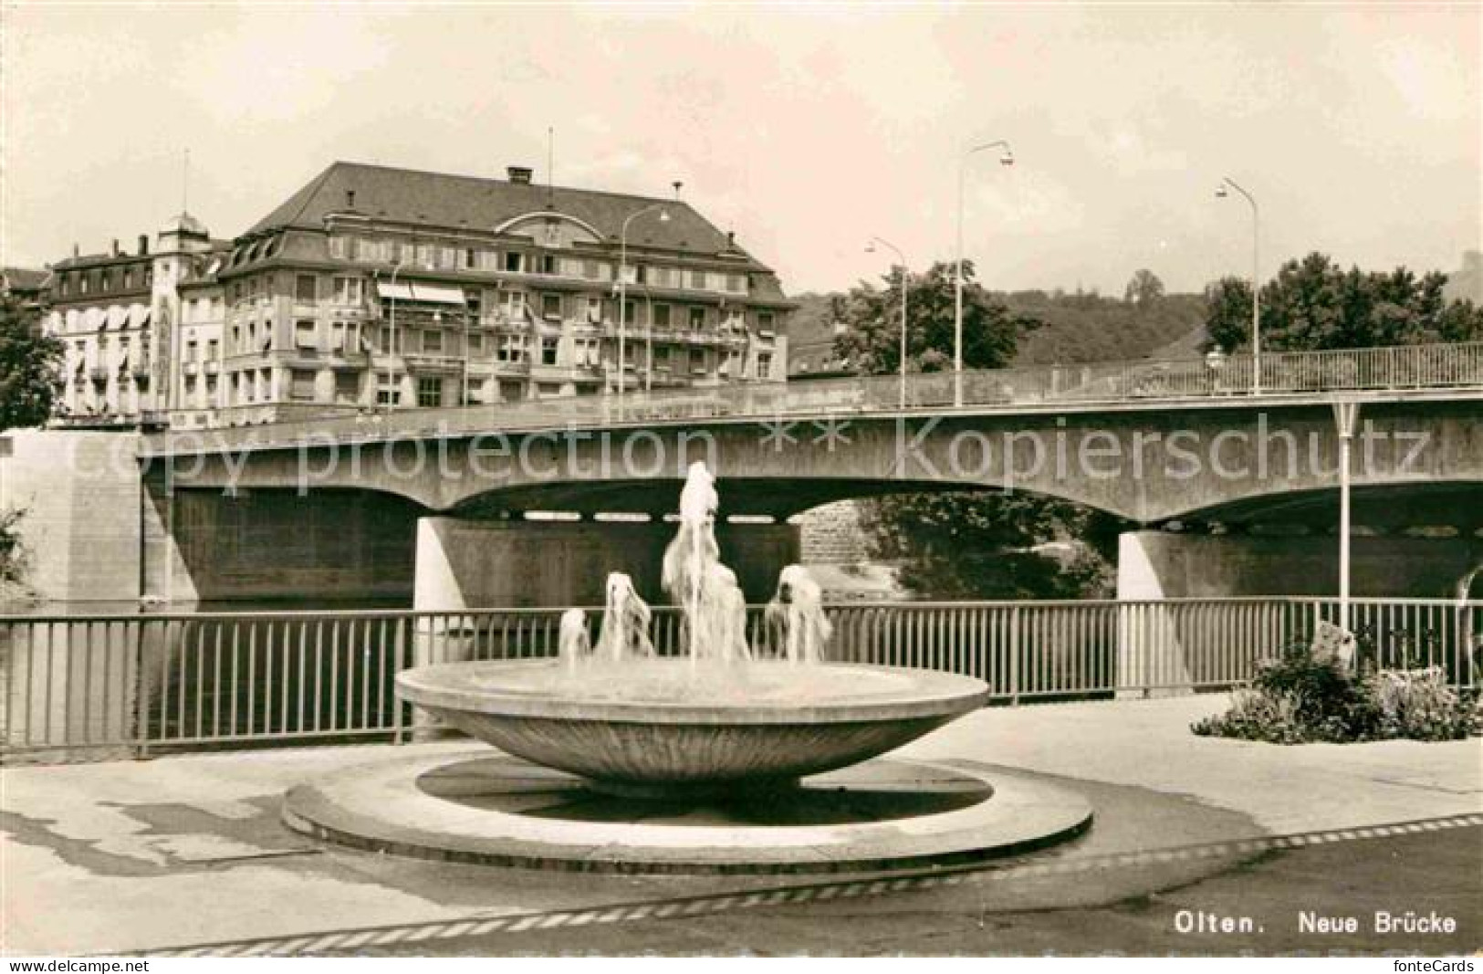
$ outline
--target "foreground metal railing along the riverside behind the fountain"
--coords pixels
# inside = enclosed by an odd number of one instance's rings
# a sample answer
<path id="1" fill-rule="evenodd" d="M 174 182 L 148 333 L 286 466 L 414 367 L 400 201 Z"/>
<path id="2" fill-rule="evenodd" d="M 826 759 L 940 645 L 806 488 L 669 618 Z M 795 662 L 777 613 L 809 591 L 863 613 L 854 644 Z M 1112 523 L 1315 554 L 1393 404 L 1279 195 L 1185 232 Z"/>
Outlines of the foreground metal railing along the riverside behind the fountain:
<path id="1" fill-rule="evenodd" d="M 589 612 L 595 630 L 601 612 Z M 909 602 L 829 608 L 829 657 L 951 670 L 995 703 L 1221 689 L 1336 620 L 1329 599 Z M 556 655 L 561 609 L 0 617 L 0 744 L 7 758 L 131 756 L 280 743 L 402 740 L 394 675 L 423 663 Z M 1384 666 L 1480 676 L 1483 602 L 1355 599 Z M 777 654 L 761 608 L 750 642 Z M 596 635 L 595 632 L 592 633 Z M 651 639 L 681 651 L 673 608 Z"/>

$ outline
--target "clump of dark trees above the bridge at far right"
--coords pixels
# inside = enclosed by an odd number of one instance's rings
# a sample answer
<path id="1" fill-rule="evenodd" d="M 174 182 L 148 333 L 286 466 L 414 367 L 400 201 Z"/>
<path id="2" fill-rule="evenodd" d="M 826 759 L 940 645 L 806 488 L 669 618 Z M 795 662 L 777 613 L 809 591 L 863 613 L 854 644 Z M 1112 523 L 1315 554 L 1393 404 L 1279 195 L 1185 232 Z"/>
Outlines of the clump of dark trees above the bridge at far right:
<path id="1" fill-rule="evenodd" d="M 1483 339 L 1483 308 L 1443 296 L 1447 276 L 1342 270 L 1324 254 L 1281 265 L 1262 286 L 1262 348 L 1318 350 Z M 1252 292 L 1226 277 L 1207 291 L 1210 344 L 1250 345 Z"/>

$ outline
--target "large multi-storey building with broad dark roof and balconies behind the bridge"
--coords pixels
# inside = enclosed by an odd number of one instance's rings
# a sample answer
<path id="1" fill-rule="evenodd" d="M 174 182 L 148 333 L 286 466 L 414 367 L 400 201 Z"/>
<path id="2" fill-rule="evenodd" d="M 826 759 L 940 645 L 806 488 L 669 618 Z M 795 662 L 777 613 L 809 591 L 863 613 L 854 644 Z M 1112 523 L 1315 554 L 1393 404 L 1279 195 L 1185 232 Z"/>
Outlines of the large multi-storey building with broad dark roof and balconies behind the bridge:
<path id="1" fill-rule="evenodd" d="M 212 283 L 224 314 L 182 319 L 202 334 L 181 366 L 188 382 L 219 362 L 219 385 L 185 390 L 179 425 L 786 378 L 792 302 L 731 234 L 679 200 L 521 168 L 335 163 L 239 236 Z M 208 295 L 182 305 L 199 301 L 211 314 Z"/>

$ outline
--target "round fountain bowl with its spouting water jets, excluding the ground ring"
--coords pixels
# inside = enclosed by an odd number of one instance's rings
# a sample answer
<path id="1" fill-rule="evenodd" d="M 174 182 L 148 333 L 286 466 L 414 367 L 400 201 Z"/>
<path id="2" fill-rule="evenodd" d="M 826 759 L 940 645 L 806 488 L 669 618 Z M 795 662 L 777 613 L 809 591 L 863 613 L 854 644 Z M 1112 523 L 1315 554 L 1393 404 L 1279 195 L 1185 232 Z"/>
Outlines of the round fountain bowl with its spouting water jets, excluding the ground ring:
<path id="1" fill-rule="evenodd" d="M 779 787 L 899 747 L 974 710 L 982 680 L 823 660 L 829 621 L 807 571 L 789 565 L 767 617 L 782 658 L 747 645 L 746 597 L 719 560 L 718 497 L 693 464 L 663 587 L 681 606 L 678 658 L 654 654 L 650 606 L 627 575 L 607 584 L 602 629 L 562 620 L 561 660 L 406 670 L 397 692 L 470 737 L 621 795 Z"/>

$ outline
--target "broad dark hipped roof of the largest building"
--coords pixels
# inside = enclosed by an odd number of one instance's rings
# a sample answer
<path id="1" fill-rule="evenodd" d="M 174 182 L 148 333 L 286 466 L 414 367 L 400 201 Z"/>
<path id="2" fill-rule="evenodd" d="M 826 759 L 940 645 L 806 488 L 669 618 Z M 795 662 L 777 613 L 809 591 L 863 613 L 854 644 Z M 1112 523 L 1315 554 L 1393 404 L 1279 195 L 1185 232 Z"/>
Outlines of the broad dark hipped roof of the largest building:
<path id="1" fill-rule="evenodd" d="M 353 206 L 349 194 L 354 194 Z M 546 187 L 366 163 L 337 162 L 260 219 L 248 234 L 285 227 L 322 230 L 329 213 L 354 212 L 374 219 L 494 230 L 526 213 L 555 209 L 575 216 L 615 242 L 623 221 L 645 206 L 666 203 L 669 219 L 641 219 L 629 246 L 736 254 L 752 270 L 765 270 L 688 203 L 598 190 Z M 740 261 L 739 261 L 740 264 Z"/>

